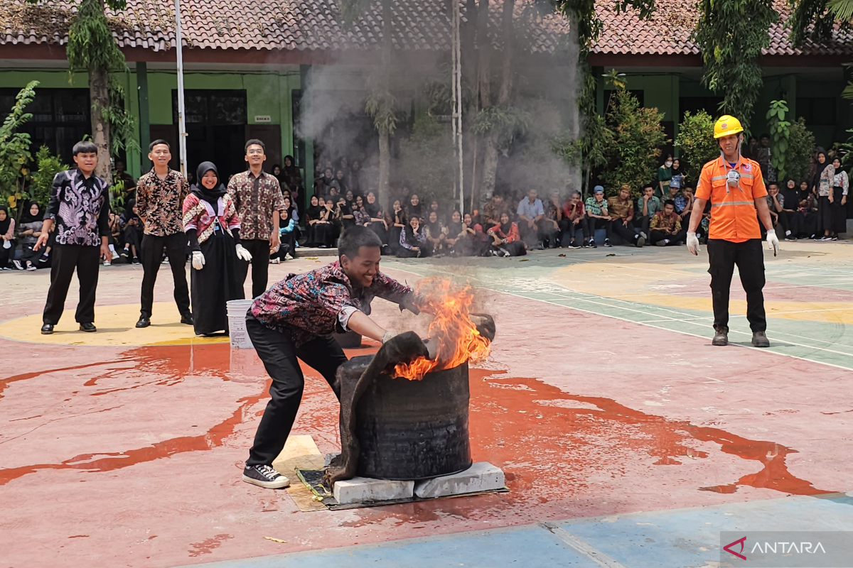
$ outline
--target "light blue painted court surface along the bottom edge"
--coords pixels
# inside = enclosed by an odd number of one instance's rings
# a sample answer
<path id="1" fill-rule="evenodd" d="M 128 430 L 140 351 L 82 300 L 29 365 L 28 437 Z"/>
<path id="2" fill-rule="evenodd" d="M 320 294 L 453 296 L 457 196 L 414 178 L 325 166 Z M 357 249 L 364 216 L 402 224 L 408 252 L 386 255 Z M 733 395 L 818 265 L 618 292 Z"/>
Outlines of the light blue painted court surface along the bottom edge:
<path id="1" fill-rule="evenodd" d="M 721 531 L 853 531 L 853 497 L 795 496 L 557 523 L 624 568 L 717 566 Z M 605 557 L 606 558 L 606 557 Z M 328 548 L 196 568 L 601 568 L 539 525 Z"/>

